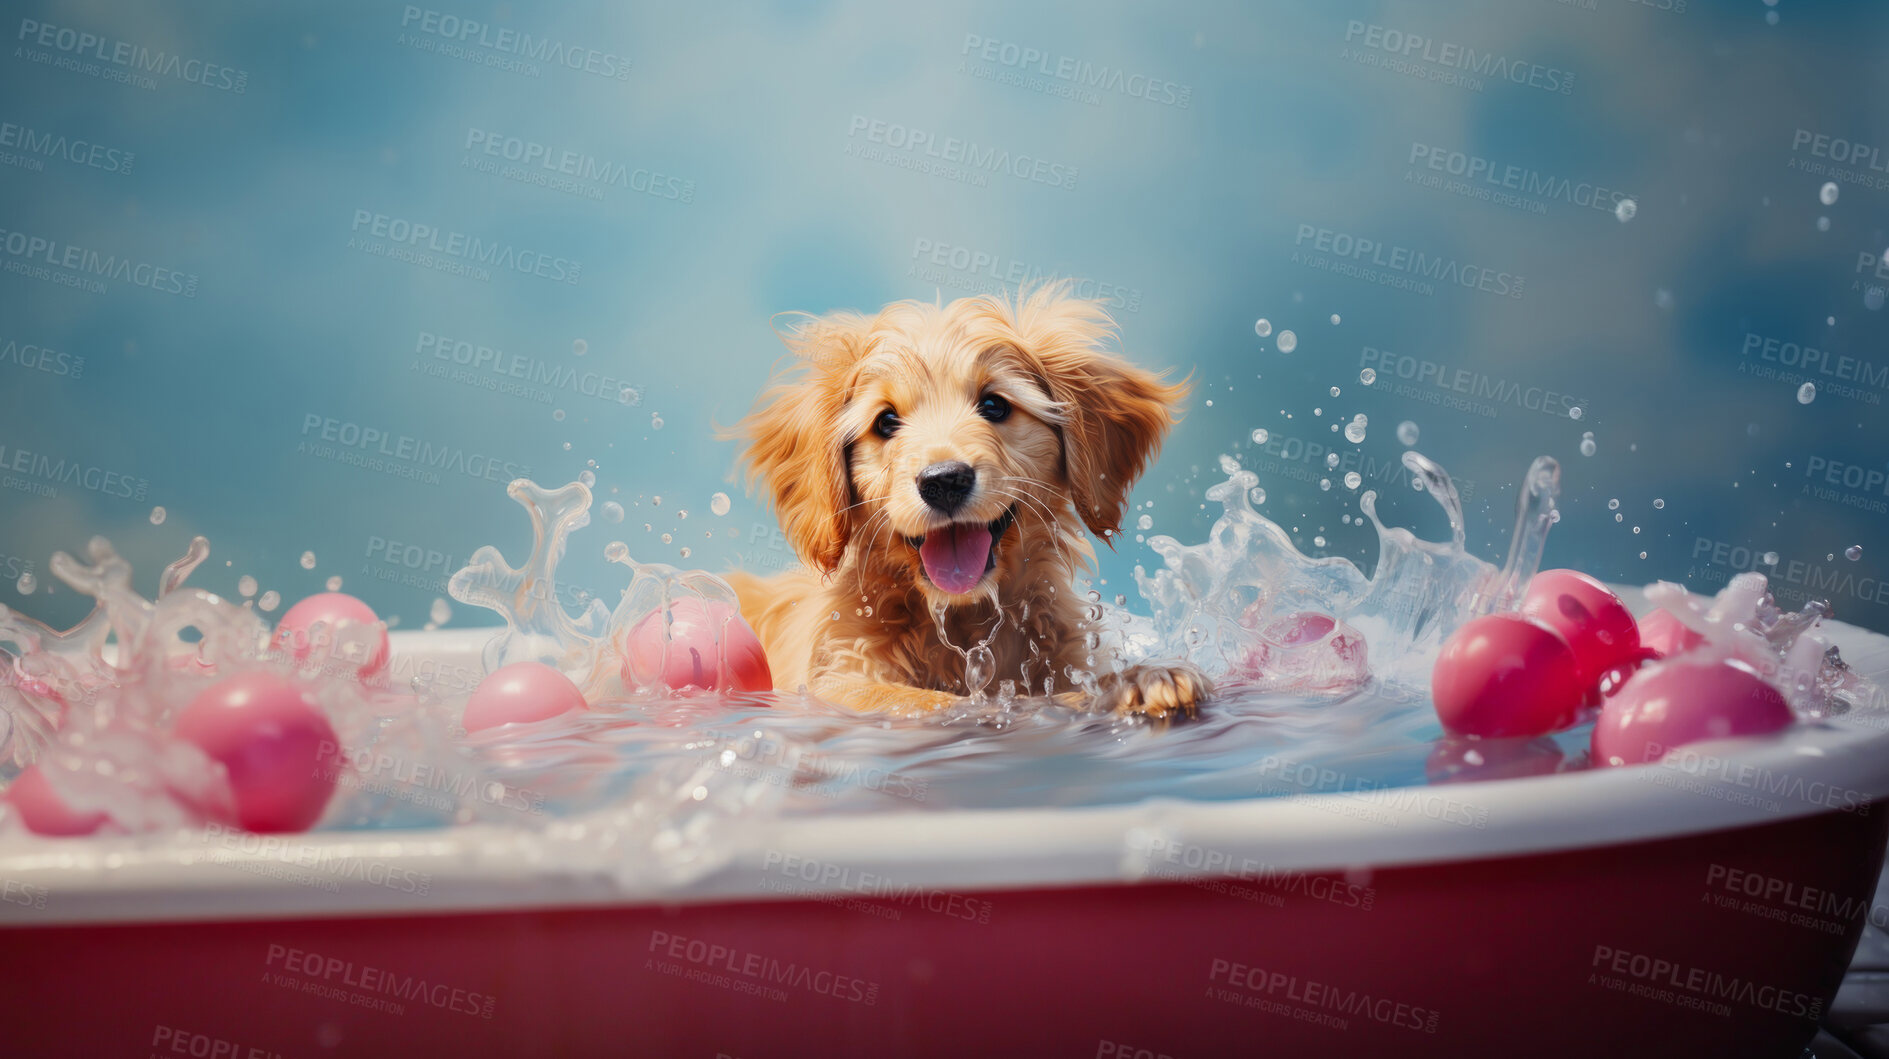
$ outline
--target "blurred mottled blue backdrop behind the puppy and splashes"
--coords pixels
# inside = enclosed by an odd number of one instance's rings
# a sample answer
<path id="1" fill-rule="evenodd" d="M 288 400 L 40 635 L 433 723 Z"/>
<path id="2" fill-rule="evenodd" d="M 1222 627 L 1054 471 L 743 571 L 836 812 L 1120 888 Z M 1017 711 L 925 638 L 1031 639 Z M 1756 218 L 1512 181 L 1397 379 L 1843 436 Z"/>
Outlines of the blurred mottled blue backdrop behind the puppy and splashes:
<path id="1" fill-rule="evenodd" d="M 623 519 L 576 585 L 616 597 L 612 538 L 784 566 L 714 440 L 769 317 L 1073 276 L 1198 383 L 1107 595 L 1205 534 L 1222 453 L 1307 553 L 1375 559 L 1347 470 L 1441 536 L 1409 421 L 1485 557 L 1549 453 L 1551 564 L 1889 630 L 1881 4 L 9 11 L 0 602 L 47 621 L 87 606 L 53 551 L 149 591 L 206 534 L 208 587 L 416 627 L 529 546 L 510 476 L 591 461 Z"/>

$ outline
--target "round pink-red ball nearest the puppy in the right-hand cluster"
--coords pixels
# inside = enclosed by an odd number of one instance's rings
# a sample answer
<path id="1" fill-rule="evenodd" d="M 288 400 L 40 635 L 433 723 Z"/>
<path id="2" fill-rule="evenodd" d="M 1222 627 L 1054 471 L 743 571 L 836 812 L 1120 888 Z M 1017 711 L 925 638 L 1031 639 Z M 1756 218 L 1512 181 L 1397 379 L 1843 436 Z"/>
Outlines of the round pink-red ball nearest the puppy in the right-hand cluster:
<path id="1" fill-rule="evenodd" d="M 1519 614 L 1470 621 L 1443 642 L 1430 693 L 1443 727 L 1470 736 L 1540 736 L 1574 723 L 1585 698 L 1574 651 Z"/>

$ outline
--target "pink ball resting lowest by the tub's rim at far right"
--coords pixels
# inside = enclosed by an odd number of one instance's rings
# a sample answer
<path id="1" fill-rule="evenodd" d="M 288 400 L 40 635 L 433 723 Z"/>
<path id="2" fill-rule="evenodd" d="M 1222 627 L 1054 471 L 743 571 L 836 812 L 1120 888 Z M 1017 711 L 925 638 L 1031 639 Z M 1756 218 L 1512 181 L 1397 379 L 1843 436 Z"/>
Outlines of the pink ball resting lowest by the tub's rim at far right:
<path id="1" fill-rule="evenodd" d="M 1676 746 L 1776 732 L 1793 719 L 1783 695 L 1745 663 L 1660 663 L 1602 706 L 1594 763 L 1642 765 Z"/>

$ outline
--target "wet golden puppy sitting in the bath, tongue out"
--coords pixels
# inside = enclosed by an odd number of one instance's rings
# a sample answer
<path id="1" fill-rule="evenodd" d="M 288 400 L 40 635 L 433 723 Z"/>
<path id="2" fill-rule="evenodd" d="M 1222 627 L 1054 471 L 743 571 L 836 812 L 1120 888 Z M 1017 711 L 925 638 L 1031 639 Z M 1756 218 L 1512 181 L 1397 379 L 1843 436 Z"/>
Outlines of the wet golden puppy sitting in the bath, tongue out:
<path id="1" fill-rule="evenodd" d="M 1186 381 L 1103 349 L 1101 304 L 1050 283 L 1016 300 L 893 302 L 808 317 L 797 362 L 731 432 L 807 568 L 733 574 L 780 689 L 924 714 L 1016 680 L 1069 700 L 1094 621 L 1075 578 L 1082 527 L 1113 546 Z M 984 657 L 988 649 L 990 657 Z M 1186 664 L 1103 676 L 1099 706 L 1192 714 Z"/>

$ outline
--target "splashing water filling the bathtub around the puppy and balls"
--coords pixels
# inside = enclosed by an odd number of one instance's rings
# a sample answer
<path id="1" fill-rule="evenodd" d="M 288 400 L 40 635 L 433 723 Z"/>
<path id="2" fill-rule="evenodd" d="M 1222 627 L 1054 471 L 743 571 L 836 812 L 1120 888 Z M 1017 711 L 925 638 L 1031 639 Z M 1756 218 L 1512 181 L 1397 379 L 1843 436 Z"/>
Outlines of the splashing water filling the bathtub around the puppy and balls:
<path id="1" fill-rule="evenodd" d="M 1064 695 L 1047 698 L 1041 674 L 992 672 L 988 651 L 958 644 L 967 695 L 916 719 L 859 715 L 795 691 L 667 689 L 661 655 L 674 647 L 678 615 L 731 606 L 733 593 L 706 572 L 637 563 L 621 542 L 580 544 L 586 481 L 514 481 L 531 553 L 514 566 L 482 547 L 450 593 L 504 617 L 484 672 L 542 663 L 587 706 L 474 732 L 461 719 L 480 672 L 412 659 L 374 668 L 382 629 L 365 623 L 315 623 L 306 649 L 287 651 L 253 606 L 187 585 L 208 555 L 202 538 L 164 570 L 153 598 L 132 591 L 130 566 L 94 538 L 89 563 L 60 553 L 51 564 L 96 598 L 83 623 L 60 632 L 0 608 L 4 776 L 36 765 L 68 810 L 106 831 L 229 819 L 227 770 L 170 732 L 185 704 L 230 672 L 274 670 L 304 681 L 332 729 L 321 753 L 334 793 L 319 827 L 497 821 L 563 838 L 612 870 L 688 878 L 714 866 L 718 829 L 774 814 L 1396 797 L 1407 785 L 1587 766 L 1587 723 L 1538 740 L 1458 740 L 1428 700 L 1443 638 L 1519 602 L 1557 517 L 1560 468 L 1541 457 L 1523 472 L 1515 534 L 1496 566 L 1466 549 L 1449 474 L 1415 449 L 1402 459 L 1409 483 L 1445 513 L 1449 540 L 1385 527 L 1366 491 L 1358 508 L 1377 530 L 1373 574 L 1307 557 L 1258 512 L 1258 476 L 1222 457 L 1224 479 L 1205 491 L 1222 508 L 1207 540 L 1149 540 L 1158 564 L 1137 568 L 1145 614 L 1088 593 L 1094 655 L 1086 668 L 1050 674 L 1050 691 Z M 574 593 L 557 583 L 557 564 L 578 546 L 621 566 L 627 587 L 614 608 L 597 585 L 586 587 L 586 610 L 565 608 Z M 1694 610 L 1677 587 L 1653 597 L 1702 630 L 1715 629 L 1708 617 L 1734 625 Z M 1857 698 L 1853 674 L 1812 632 L 1815 604 L 1781 614 L 1762 576 L 1749 574 L 1721 595 L 1725 608 L 1779 674 L 1796 674 L 1791 704 L 1802 715 Z M 625 664 L 625 640 L 637 636 L 655 655 Z M 708 649 L 729 646 L 720 638 Z M 1147 659 L 1188 659 L 1215 678 L 1200 719 L 1162 725 L 1067 704 L 1069 691 Z M 714 670 L 727 659 L 695 664 Z M 6 810 L 4 827 L 21 827 L 17 810 Z"/>

